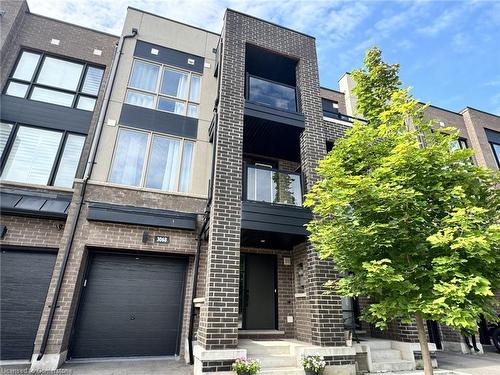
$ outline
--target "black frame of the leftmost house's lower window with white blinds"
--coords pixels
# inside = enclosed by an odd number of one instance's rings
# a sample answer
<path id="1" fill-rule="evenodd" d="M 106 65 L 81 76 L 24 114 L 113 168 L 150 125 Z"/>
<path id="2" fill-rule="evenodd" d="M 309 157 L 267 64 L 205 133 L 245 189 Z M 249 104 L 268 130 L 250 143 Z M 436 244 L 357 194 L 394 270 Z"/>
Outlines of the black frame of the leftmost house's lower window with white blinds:
<path id="1" fill-rule="evenodd" d="M 81 160 L 82 160 L 82 155 L 83 155 L 83 152 L 84 152 L 84 149 L 85 149 L 85 142 L 87 141 L 87 134 L 78 133 L 78 132 L 72 132 L 72 131 L 68 131 L 68 130 L 57 130 L 57 129 L 51 129 L 51 128 L 44 128 L 42 126 L 30 125 L 30 124 L 25 124 L 25 123 L 20 123 L 20 122 L 12 122 L 12 121 L 2 121 L 2 122 L 6 123 L 6 124 L 11 124 L 12 125 L 12 129 L 10 131 L 9 137 L 7 138 L 7 142 L 5 143 L 5 147 L 3 149 L 3 152 L 0 155 L 0 181 L 2 183 L 4 183 L 4 182 L 5 183 L 13 183 L 13 184 L 20 183 L 19 181 L 10 181 L 10 180 L 1 179 L 1 176 L 3 175 L 4 169 L 5 169 L 5 165 L 7 163 L 7 159 L 9 158 L 10 151 L 12 149 L 12 146 L 14 145 L 14 141 L 16 139 L 17 132 L 18 132 L 19 128 L 20 127 L 26 127 L 26 128 L 33 128 L 33 129 L 39 129 L 39 130 L 52 131 L 52 132 L 60 133 L 61 134 L 61 140 L 59 141 L 59 146 L 57 148 L 57 152 L 56 152 L 56 155 L 55 155 L 55 158 L 54 158 L 54 162 L 53 162 L 52 168 L 50 170 L 50 174 L 49 174 L 49 178 L 47 180 L 47 184 L 40 185 L 40 186 L 53 186 L 55 188 L 60 188 L 60 189 L 71 189 L 71 188 L 64 187 L 64 186 L 56 186 L 56 185 L 54 185 L 54 182 L 55 182 L 56 177 L 57 177 L 57 172 L 59 170 L 59 165 L 61 163 L 61 158 L 62 158 L 62 155 L 63 155 L 63 152 L 64 152 L 64 147 L 66 146 L 66 141 L 67 141 L 67 139 L 68 139 L 68 137 L 70 135 L 77 135 L 77 136 L 84 137 L 84 141 L 83 141 L 84 143 L 83 143 L 83 147 L 82 147 L 82 152 L 80 153 L 80 158 L 79 158 L 79 161 L 78 161 L 78 166 L 77 166 L 76 171 L 75 171 L 75 178 L 77 178 L 78 168 L 80 166 L 80 163 L 81 163 Z M 29 184 L 29 182 L 25 182 L 25 183 Z M 36 184 L 36 185 L 39 185 L 39 184 Z"/>

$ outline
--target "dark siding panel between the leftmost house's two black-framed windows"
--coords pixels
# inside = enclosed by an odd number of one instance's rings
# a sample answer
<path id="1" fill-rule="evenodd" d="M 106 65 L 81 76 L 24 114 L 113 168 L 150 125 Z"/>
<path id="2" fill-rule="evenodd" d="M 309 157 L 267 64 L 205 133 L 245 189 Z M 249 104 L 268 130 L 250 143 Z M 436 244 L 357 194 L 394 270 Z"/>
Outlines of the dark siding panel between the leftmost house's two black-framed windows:
<path id="1" fill-rule="evenodd" d="M 2 95 L 3 121 L 88 134 L 93 112 Z"/>

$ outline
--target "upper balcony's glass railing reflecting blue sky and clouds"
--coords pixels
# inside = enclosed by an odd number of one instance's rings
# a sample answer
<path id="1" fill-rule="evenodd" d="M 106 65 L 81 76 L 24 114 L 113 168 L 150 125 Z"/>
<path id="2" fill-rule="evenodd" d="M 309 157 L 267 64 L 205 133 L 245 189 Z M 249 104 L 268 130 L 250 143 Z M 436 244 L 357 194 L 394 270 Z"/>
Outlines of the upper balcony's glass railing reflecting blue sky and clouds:
<path id="1" fill-rule="evenodd" d="M 297 112 L 295 87 L 248 76 L 248 100 L 283 111 Z"/>

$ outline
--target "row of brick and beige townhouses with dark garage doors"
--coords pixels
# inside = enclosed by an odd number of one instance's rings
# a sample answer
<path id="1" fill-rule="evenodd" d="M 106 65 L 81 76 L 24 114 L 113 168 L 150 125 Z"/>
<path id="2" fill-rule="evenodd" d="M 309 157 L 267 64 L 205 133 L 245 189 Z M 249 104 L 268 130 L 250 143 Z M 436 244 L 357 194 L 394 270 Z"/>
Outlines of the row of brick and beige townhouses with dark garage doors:
<path id="1" fill-rule="evenodd" d="M 128 8 L 113 36 L 1 7 L 2 361 L 172 356 L 201 374 L 281 339 L 354 373 L 367 355 L 346 330 L 418 341 L 323 293 L 335 269 L 302 197 L 356 99 L 348 74 L 320 86 L 313 37 L 229 9 L 216 34 Z M 427 115 L 499 168 L 500 117 Z"/>

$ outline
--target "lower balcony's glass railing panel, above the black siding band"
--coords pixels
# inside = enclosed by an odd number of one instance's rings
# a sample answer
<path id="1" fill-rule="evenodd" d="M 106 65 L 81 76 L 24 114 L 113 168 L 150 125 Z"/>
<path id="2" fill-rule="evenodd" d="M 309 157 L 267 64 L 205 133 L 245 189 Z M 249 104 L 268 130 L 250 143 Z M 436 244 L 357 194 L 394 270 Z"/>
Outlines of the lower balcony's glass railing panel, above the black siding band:
<path id="1" fill-rule="evenodd" d="M 302 206 L 302 175 L 248 166 L 245 192 L 246 200 Z"/>

